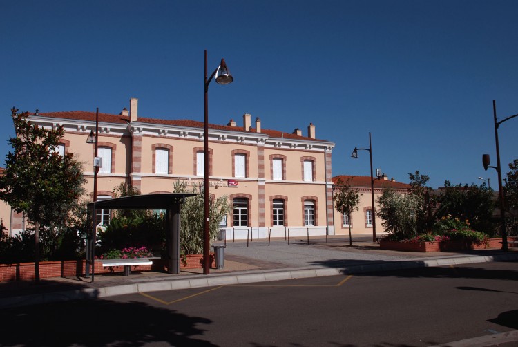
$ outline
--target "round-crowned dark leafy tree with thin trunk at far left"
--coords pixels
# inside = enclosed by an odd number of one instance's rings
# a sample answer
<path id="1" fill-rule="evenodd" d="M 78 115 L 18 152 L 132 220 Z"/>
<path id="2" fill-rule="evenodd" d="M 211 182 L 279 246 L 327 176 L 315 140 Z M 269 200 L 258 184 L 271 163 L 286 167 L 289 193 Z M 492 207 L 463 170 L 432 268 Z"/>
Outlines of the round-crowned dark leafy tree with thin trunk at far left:
<path id="1" fill-rule="evenodd" d="M 45 129 L 28 122 L 28 112 L 11 109 L 16 137 L 0 177 L 0 198 L 25 214 L 35 227 L 35 280 L 39 281 L 39 234 L 45 227 L 66 224 L 69 212 L 84 194 L 82 167 L 72 153 L 55 149 L 62 126 Z"/>

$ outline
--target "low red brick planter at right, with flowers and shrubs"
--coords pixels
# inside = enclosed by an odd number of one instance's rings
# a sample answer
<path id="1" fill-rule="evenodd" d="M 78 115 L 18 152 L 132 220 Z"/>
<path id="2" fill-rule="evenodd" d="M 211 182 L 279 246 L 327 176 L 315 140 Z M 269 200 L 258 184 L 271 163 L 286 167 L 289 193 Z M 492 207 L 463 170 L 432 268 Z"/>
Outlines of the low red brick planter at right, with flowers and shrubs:
<path id="1" fill-rule="evenodd" d="M 517 241 L 518 237 L 509 237 L 508 241 Z M 401 252 L 455 252 L 461 250 L 485 250 L 499 249 L 502 247 L 501 238 L 489 238 L 487 243 L 477 245 L 465 241 L 441 241 L 441 242 L 398 242 L 380 240 L 381 250 L 393 250 Z M 511 246 L 509 246 L 511 247 Z"/>

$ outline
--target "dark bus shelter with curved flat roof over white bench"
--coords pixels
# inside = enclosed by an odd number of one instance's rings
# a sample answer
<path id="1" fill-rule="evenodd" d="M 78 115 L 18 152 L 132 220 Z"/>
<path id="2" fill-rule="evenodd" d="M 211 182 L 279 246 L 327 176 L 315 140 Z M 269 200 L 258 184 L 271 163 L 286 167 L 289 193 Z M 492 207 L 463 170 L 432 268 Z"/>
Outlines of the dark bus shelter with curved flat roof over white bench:
<path id="1" fill-rule="evenodd" d="M 95 243 L 97 242 L 98 209 L 164 209 L 166 210 L 166 261 L 169 274 L 180 274 L 180 211 L 185 198 L 193 193 L 166 193 L 124 196 L 88 203 L 88 225 L 86 236 L 86 277 L 90 267 L 92 282 L 95 277 Z"/>

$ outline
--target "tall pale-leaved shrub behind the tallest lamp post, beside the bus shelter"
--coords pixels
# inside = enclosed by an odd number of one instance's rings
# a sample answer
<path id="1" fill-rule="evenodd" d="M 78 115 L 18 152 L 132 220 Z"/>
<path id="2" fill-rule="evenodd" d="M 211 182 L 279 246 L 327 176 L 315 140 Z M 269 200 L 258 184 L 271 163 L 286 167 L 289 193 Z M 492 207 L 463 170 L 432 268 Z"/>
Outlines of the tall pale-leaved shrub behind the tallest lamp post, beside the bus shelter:
<path id="1" fill-rule="evenodd" d="M 180 248 L 184 254 L 203 253 L 203 194 L 202 186 L 193 187 L 192 193 L 196 196 L 186 198 L 180 212 Z M 187 193 L 184 182 L 177 181 L 173 187 L 175 193 Z M 231 205 L 227 196 L 209 200 L 209 238 L 216 238 L 220 229 L 220 221 L 231 212 Z"/>

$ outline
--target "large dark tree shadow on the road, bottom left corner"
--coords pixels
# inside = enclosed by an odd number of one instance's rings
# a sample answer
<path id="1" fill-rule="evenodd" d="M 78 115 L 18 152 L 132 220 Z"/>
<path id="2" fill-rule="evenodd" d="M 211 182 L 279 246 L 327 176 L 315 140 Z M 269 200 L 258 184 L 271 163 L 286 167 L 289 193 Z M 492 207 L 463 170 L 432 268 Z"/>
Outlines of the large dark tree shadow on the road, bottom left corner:
<path id="1" fill-rule="evenodd" d="M 0 311 L 1 346 L 215 346 L 212 321 L 142 302 L 68 301 Z"/>

